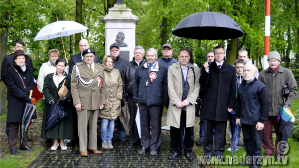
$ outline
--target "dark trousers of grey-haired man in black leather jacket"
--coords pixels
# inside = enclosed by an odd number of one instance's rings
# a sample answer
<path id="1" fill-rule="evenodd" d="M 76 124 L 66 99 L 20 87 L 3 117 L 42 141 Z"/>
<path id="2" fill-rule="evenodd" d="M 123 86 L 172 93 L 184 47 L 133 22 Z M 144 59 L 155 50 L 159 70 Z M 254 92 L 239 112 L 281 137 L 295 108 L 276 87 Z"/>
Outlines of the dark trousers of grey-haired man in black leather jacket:
<path id="1" fill-rule="evenodd" d="M 133 100 L 133 98 L 128 97 L 128 106 L 130 110 L 130 132 L 129 132 L 129 143 L 136 143 L 137 142 L 137 125 L 136 125 L 136 114 L 137 114 L 137 106 Z"/>

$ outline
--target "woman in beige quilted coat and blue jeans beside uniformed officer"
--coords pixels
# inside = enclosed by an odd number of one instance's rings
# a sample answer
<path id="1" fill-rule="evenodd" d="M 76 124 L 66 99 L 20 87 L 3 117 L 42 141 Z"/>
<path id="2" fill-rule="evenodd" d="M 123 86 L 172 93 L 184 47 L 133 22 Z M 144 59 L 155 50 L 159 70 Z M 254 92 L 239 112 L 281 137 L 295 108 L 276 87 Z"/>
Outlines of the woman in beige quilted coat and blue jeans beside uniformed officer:
<path id="1" fill-rule="evenodd" d="M 105 72 L 106 103 L 99 113 L 102 118 L 101 137 L 102 149 L 113 150 L 111 143 L 114 131 L 114 120 L 121 114 L 121 101 L 123 98 L 123 81 L 118 69 L 113 68 L 114 57 L 106 55 L 103 58 Z"/>

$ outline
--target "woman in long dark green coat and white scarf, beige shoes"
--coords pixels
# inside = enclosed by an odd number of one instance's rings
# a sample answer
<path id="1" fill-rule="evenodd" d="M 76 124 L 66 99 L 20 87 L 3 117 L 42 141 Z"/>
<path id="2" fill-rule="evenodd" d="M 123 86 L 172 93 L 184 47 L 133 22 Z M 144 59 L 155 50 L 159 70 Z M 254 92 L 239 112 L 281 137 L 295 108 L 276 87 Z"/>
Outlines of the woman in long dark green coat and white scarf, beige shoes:
<path id="1" fill-rule="evenodd" d="M 74 139 L 73 113 L 76 113 L 76 110 L 73 106 L 71 94 L 71 74 L 65 72 L 66 65 L 67 62 L 65 59 L 58 58 L 55 62 L 56 71 L 45 77 L 42 89 L 46 100 L 46 106 L 42 121 L 41 138 L 54 139 L 54 144 L 51 147 L 51 150 L 53 151 L 55 151 L 59 145 L 62 150 L 67 150 L 67 147 L 64 144 L 64 139 Z M 58 91 L 63 86 L 63 82 L 67 87 L 68 92 L 65 97 L 60 98 Z M 54 127 L 45 131 L 49 109 L 53 103 L 58 103 L 58 106 L 62 105 L 67 116 Z M 58 143 L 58 139 L 60 139 L 60 144 Z"/>

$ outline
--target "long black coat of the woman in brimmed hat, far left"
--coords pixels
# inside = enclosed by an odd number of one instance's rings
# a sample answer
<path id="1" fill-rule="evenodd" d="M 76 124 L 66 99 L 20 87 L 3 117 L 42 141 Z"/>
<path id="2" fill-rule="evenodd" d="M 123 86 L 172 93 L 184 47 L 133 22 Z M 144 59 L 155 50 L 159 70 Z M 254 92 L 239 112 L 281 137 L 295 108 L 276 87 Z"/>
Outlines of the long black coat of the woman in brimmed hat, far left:
<path id="1" fill-rule="evenodd" d="M 21 78 L 15 72 L 13 67 L 18 71 L 23 79 L 24 85 Z M 13 61 L 13 67 L 8 67 L 6 70 L 6 83 L 7 83 L 7 122 L 17 123 L 22 122 L 22 117 L 25 109 L 25 99 L 20 96 L 23 95 L 24 98 L 29 97 L 30 90 L 33 90 L 35 83 L 33 80 L 33 71 L 26 64 L 26 70 L 23 72 L 21 68 L 16 65 Z M 35 119 L 36 115 L 32 118 Z"/>

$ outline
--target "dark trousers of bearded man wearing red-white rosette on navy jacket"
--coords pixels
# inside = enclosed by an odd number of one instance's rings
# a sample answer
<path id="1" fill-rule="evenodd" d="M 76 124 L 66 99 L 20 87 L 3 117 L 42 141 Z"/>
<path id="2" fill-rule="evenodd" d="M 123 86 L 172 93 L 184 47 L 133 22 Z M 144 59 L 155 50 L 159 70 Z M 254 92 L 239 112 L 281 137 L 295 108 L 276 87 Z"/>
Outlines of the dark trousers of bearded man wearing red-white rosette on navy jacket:
<path id="1" fill-rule="evenodd" d="M 161 144 L 161 124 L 163 106 L 146 106 L 139 104 L 140 126 L 141 126 L 141 146 L 146 150 L 159 151 Z M 149 122 L 151 135 L 149 133 Z"/>

